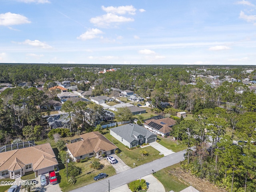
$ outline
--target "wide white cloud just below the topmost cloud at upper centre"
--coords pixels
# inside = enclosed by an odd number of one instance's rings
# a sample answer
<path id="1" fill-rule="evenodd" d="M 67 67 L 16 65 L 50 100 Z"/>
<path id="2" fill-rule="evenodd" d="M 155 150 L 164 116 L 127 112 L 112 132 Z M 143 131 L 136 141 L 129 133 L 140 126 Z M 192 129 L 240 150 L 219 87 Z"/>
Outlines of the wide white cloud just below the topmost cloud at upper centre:
<path id="1" fill-rule="evenodd" d="M 90 19 L 90 22 L 96 26 L 108 27 L 111 23 L 123 23 L 123 22 L 132 22 L 133 18 L 128 18 L 124 16 L 118 16 L 116 14 L 108 13 L 102 16 L 94 17 Z"/>

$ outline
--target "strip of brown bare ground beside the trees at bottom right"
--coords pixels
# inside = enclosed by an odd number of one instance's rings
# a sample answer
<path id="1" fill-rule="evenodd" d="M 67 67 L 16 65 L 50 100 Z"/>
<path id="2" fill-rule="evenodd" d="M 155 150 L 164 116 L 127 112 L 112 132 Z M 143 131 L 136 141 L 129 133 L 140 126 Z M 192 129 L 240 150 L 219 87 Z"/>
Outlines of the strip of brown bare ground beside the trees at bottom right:
<path id="1" fill-rule="evenodd" d="M 226 190 L 219 189 L 206 180 L 196 178 L 195 176 L 190 175 L 190 173 L 184 172 L 180 167 L 174 168 L 169 172 L 173 176 L 176 176 L 181 182 L 192 185 L 200 192 L 226 192 Z"/>

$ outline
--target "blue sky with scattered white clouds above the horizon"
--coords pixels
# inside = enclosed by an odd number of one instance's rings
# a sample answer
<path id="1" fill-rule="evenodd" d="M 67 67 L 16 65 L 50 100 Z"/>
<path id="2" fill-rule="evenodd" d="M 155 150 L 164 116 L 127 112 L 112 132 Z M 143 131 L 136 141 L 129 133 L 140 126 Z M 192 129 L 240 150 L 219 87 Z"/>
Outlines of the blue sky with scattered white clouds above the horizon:
<path id="1" fill-rule="evenodd" d="M 1 0 L 0 63 L 256 64 L 256 0 Z"/>

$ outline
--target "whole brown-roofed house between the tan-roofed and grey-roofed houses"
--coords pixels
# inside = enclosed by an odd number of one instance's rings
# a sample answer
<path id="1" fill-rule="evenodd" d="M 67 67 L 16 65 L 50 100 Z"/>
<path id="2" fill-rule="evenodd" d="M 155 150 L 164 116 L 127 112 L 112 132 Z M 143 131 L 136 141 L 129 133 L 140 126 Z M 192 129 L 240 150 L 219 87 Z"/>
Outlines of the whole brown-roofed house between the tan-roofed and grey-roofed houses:
<path id="1" fill-rule="evenodd" d="M 75 161 L 86 157 L 99 158 L 102 154 L 110 155 L 118 148 L 98 131 L 82 134 L 80 138 L 77 142 L 66 144 L 70 156 Z"/>

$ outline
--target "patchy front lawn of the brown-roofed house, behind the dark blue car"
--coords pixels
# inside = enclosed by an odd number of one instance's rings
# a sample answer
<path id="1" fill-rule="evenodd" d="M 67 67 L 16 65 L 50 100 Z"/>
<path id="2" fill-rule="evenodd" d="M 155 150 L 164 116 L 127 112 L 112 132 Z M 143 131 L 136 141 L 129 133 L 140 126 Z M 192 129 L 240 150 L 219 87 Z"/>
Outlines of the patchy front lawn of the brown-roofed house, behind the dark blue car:
<path id="1" fill-rule="evenodd" d="M 82 186 L 88 185 L 90 183 L 95 182 L 93 178 L 99 173 L 106 173 L 108 176 L 112 176 L 116 174 L 116 170 L 109 164 L 106 159 L 103 159 L 101 164 L 104 164 L 104 167 L 100 170 L 95 170 L 94 168 L 90 168 L 90 162 L 98 161 L 99 159 L 90 158 L 87 162 L 83 163 L 75 163 L 76 166 L 82 168 L 82 174 L 76 176 L 76 184 L 69 185 L 67 182 L 66 176 L 66 167 L 61 169 L 56 175 L 58 176 L 58 182 L 60 184 L 60 188 L 63 192 L 68 192 L 70 190 L 74 190 L 76 188 L 80 188 Z"/>

